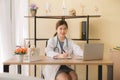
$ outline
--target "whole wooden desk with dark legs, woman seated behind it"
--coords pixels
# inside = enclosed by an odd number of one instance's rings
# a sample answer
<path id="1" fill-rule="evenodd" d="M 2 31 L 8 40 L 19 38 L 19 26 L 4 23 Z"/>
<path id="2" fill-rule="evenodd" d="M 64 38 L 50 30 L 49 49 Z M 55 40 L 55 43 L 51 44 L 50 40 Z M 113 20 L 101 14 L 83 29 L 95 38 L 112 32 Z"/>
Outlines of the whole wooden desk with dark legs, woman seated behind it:
<path id="1" fill-rule="evenodd" d="M 18 65 L 19 68 L 20 65 L 62 65 L 62 64 L 70 64 L 70 65 L 98 65 L 98 80 L 102 80 L 102 65 L 107 65 L 108 74 L 107 74 L 107 80 L 113 80 L 113 62 L 108 59 L 104 60 L 94 60 L 94 61 L 83 61 L 83 60 L 77 60 L 75 58 L 72 59 L 59 59 L 55 60 L 50 57 L 46 56 L 40 56 L 39 61 L 34 62 L 17 62 L 16 58 L 11 58 L 4 62 L 4 72 L 9 72 L 9 65 Z M 18 70 L 19 73 L 21 73 L 20 70 Z M 88 72 L 88 71 L 87 71 Z M 86 74 L 86 80 L 88 80 L 88 74 Z"/>

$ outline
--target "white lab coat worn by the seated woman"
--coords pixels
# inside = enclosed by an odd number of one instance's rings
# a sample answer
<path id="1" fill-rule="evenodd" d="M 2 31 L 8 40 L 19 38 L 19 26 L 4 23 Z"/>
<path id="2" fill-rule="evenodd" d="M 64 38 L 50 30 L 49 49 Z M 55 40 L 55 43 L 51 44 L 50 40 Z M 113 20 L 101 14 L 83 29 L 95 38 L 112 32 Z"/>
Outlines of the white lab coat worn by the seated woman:
<path id="1" fill-rule="evenodd" d="M 60 48 L 59 42 L 57 45 L 57 47 L 59 48 L 59 52 L 54 51 L 56 44 L 57 44 L 57 36 L 48 40 L 47 47 L 45 49 L 45 53 L 47 56 L 54 57 L 55 55 L 61 53 L 61 48 Z M 63 49 L 65 51 L 67 51 L 67 53 L 69 55 L 74 53 L 75 55 L 83 56 L 83 50 L 80 49 L 80 47 L 78 45 L 73 43 L 72 40 L 66 41 L 66 39 L 65 39 Z M 45 80 L 55 80 L 55 76 L 56 76 L 56 73 L 57 73 L 59 67 L 60 67 L 60 65 L 46 65 L 43 70 L 43 75 L 45 77 Z"/>

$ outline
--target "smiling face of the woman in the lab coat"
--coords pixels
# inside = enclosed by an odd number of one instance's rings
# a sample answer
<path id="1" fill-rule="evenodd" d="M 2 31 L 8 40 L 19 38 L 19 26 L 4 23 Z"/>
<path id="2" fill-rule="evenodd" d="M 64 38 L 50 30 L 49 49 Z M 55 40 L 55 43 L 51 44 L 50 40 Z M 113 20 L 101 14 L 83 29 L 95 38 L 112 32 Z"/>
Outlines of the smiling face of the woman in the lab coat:
<path id="1" fill-rule="evenodd" d="M 59 37 L 65 37 L 65 35 L 67 34 L 67 27 L 66 27 L 66 25 L 60 25 L 58 28 L 57 28 L 57 30 L 56 30 L 56 32 L 57 32 L 57 35 L 59 36 Z"/>

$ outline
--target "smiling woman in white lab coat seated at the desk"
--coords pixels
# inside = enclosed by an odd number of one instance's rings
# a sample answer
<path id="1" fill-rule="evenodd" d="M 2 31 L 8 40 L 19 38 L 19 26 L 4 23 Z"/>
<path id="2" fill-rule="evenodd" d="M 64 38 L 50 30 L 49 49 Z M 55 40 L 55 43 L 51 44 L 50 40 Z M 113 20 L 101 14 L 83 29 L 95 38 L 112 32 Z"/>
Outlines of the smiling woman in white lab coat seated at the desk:
<path id="1" fill-rule="evenodd" d="M 79 46 L 66 38 L 68 25 L 65 20 L 56 24 L 56 33 L 48 40 L 46 55 L 52 58 L 67 58 L 72 53 L 83 56 Z M 77 74 L 70 65 L 46 65 L 43 71 L 45 80 L 78 80 Z"/>

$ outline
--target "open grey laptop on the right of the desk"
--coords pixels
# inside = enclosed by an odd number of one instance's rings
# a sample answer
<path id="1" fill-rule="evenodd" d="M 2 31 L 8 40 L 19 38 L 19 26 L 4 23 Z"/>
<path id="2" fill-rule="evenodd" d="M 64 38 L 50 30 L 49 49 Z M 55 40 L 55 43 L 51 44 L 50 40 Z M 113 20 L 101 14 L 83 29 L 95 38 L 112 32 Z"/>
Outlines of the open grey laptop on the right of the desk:
<path id="1" fill-rule="evenodd" d="M 104 52 L 103 43 L 84 44 L 83 60 L 102 60 Z"/>

